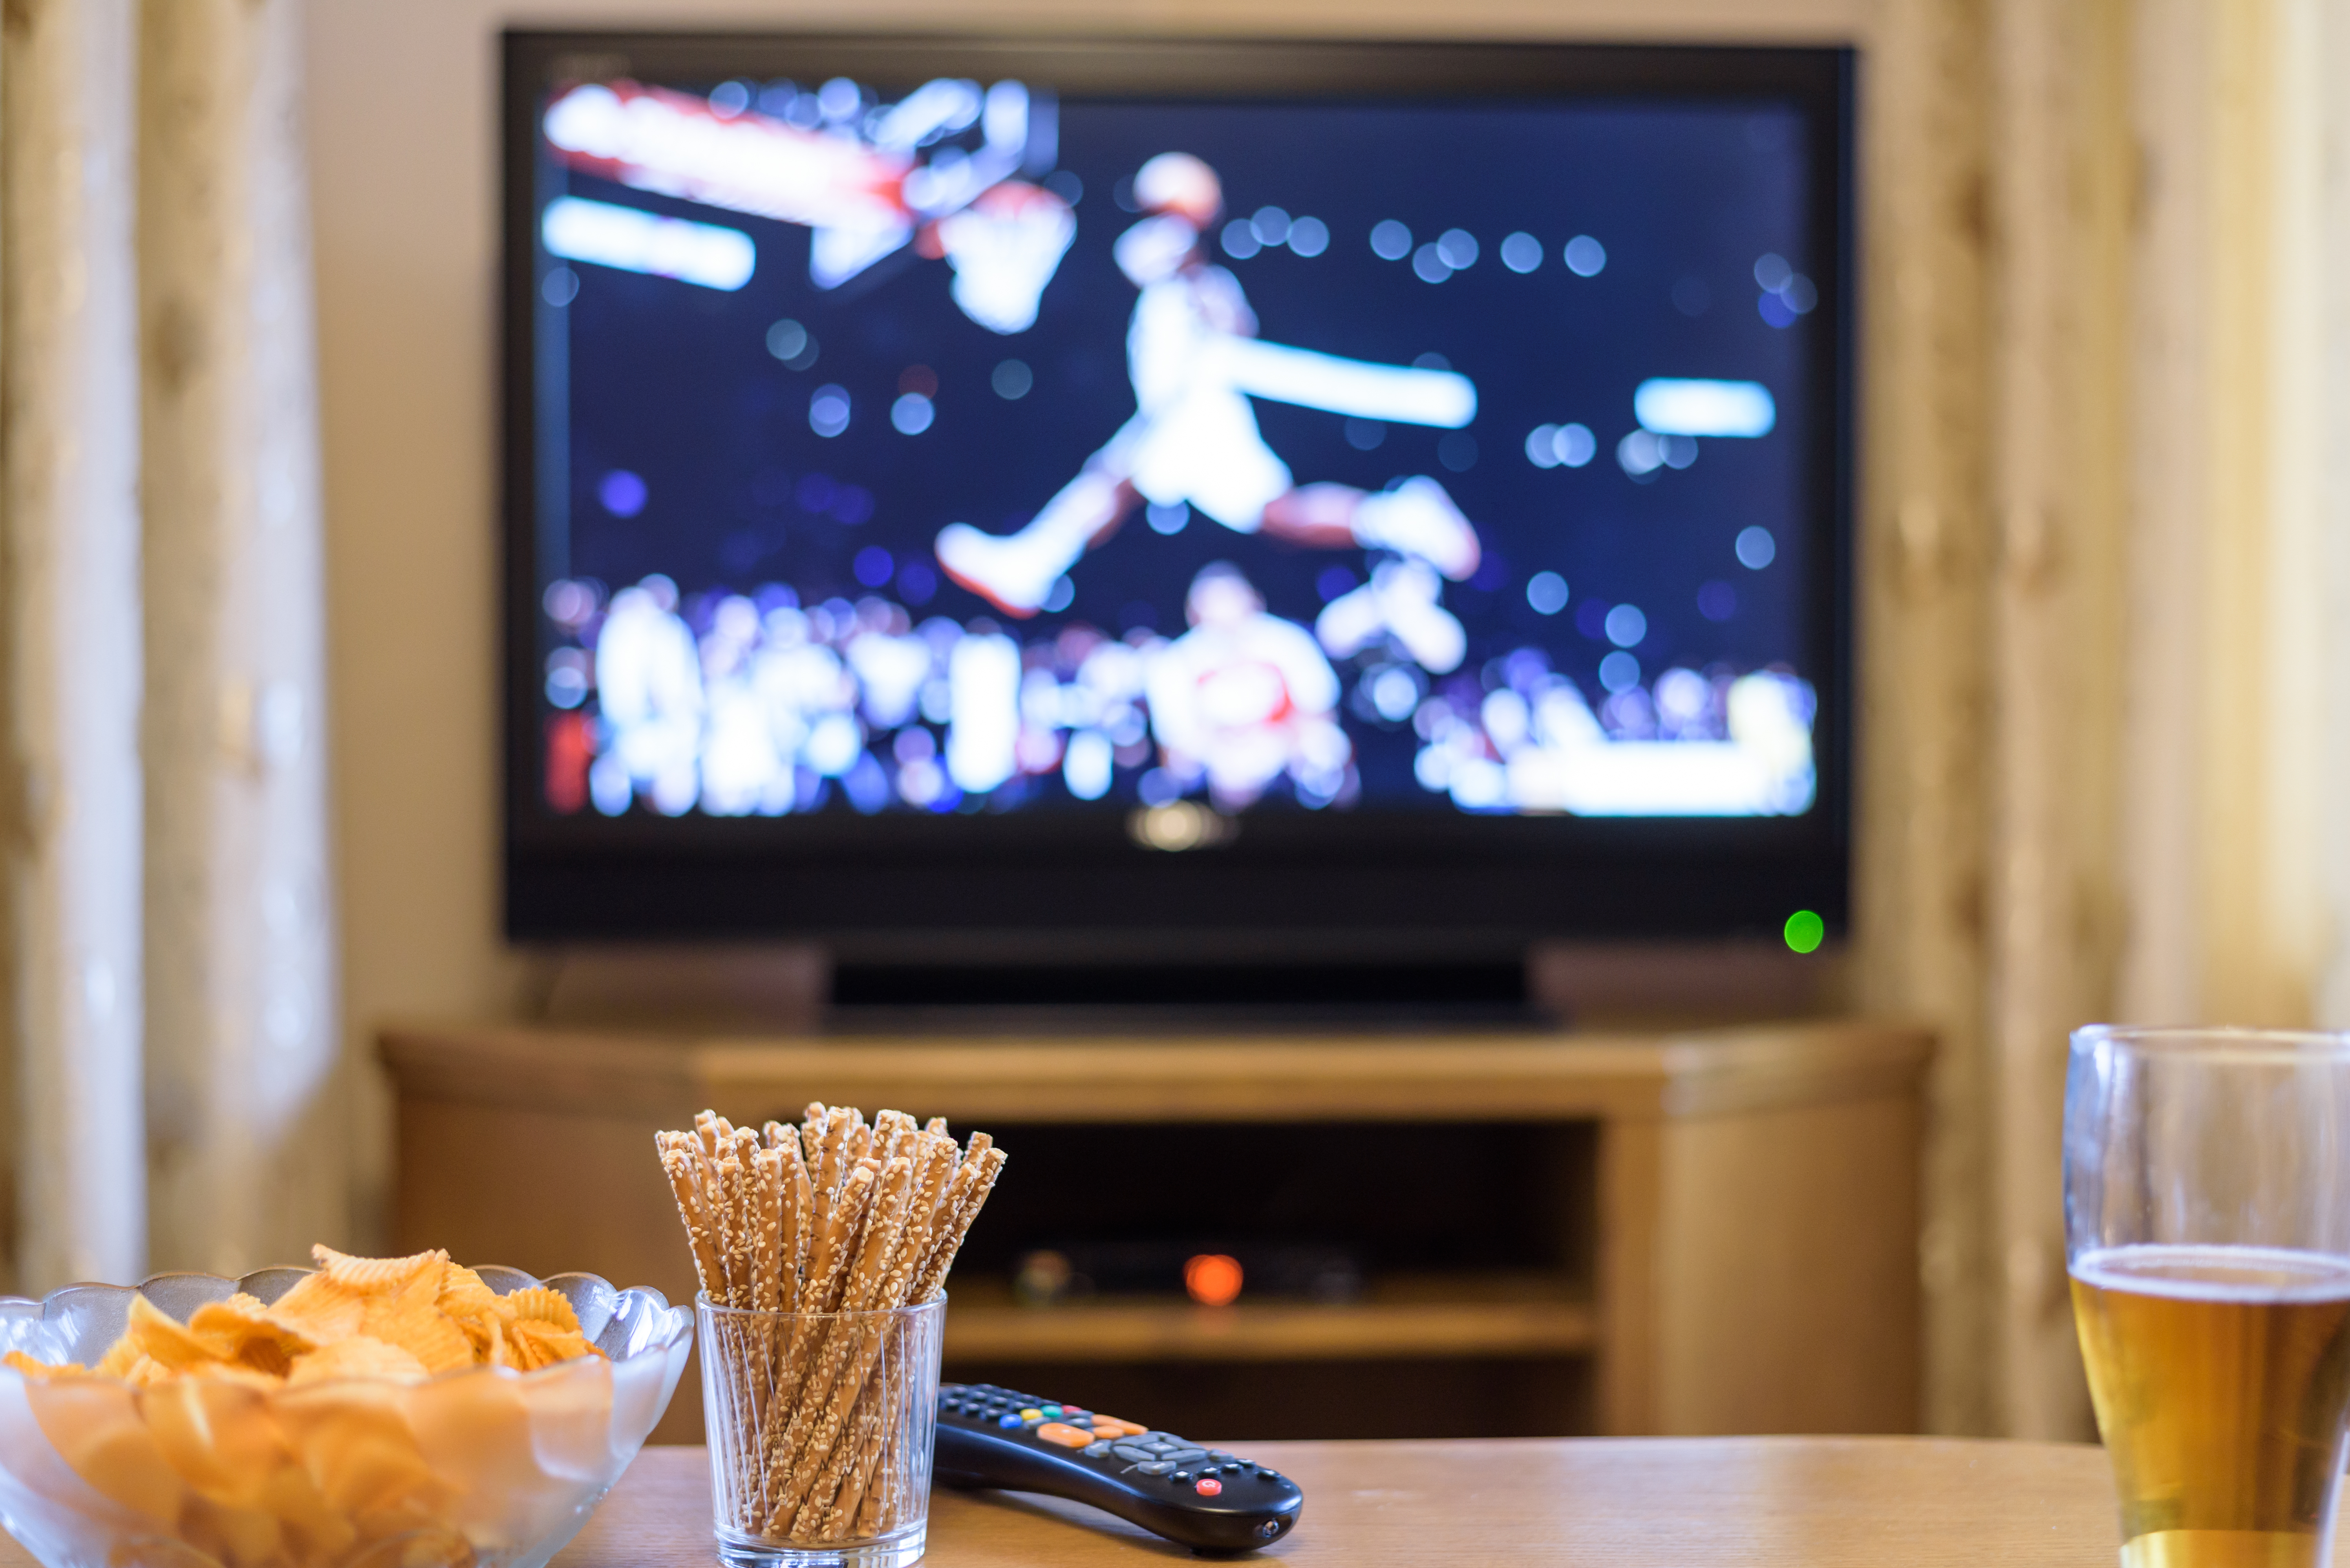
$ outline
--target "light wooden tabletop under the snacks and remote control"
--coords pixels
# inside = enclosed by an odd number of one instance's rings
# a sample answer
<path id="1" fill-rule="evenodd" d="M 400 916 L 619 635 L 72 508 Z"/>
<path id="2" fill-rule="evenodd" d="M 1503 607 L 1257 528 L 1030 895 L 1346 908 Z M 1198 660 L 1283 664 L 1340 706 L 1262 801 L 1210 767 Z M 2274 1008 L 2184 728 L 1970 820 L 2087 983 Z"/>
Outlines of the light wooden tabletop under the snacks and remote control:
<path id="1" fill-rule="evenodd" d="M 1297 1533 L 1243 1561 L 2068 1563 L 2110 1568 L 2113 1476 L 2087 1444 L 1929 1437 L 1243 1444 L 1307 1493 Z M 928 1568 L 1198 1561 L 1095 1509 L 938 1493 Z M 646 1448 L 552 1568 L 707 1568 L 700 1448 Z"/>

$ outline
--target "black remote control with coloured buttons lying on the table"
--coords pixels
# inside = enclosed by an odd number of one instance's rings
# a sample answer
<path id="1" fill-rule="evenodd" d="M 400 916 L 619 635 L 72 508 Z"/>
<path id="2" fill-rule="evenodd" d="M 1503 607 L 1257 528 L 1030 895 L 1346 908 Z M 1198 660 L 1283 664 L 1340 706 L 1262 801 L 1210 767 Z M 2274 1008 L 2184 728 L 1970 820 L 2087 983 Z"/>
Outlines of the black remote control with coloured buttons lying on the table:
<path id="1" fill-rule="evenodd" d="M 938 1390 L 933 1474 L 1086 1502 L 1201 1554 L 1276 1542 L 1307 1505 L 1295 1481 L 1222 1448 L 992 1383 Z"/>

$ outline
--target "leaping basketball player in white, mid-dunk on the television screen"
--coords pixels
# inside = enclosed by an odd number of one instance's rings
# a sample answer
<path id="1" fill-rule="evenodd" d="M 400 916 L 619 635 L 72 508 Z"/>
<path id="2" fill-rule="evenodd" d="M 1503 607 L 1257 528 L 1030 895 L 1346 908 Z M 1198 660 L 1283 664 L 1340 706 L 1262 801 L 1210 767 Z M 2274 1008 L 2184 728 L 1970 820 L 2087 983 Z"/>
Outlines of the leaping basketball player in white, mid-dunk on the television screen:
<path id="1" fill-rule="evenodd" d="M 1135 415 L 1025 528 L 1010 535 L 949 523 L 938 563 L 1006 615 L 1034 615 L 1053 584 L 1137 500 L 1191 505 L 1234 533 L 1321 549 L 1391 549 L 1455 582 L 1478 566 L 1469 521 L 1426 477 L 1391 491 L 1297 486 L 1264 446 L 1248 397 L 1419 425 L 1466 425 L 1476 390 L 1450 371 L 1361 364 L 1257 343 L 1238 279 L 1208 263 L 1201 235 L 1224 207 L 1215 169 L 1161 153 L 1135 174 L 1147 214 L 1119 235 L 1119 270 L 1142 291 L 1126 331 Z"/>

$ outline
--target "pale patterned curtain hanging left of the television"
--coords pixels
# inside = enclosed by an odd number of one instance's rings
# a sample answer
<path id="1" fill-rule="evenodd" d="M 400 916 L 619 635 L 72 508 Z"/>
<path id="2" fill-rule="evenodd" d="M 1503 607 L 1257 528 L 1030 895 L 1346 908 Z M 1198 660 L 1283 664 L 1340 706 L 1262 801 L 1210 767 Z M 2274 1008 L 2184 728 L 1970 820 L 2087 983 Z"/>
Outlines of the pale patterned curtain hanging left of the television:
<path id="1" fill-rule="evenodd" d="M 0 7 L 21 1291 L 348 1230 L 296 26 Z"/>

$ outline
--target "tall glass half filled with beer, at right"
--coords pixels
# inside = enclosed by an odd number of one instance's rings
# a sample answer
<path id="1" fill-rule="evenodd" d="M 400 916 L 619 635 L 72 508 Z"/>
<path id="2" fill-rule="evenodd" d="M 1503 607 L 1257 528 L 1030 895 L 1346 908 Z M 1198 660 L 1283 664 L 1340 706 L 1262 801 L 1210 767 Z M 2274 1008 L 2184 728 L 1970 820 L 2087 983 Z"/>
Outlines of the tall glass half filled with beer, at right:
<path id="1" fill-rule="evenodd" d="M 2350 1035 L 2084 1028 L 2066 1263 L 2124 1568 L 2322 1568 L 2350 1432 Z"/>

